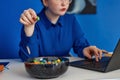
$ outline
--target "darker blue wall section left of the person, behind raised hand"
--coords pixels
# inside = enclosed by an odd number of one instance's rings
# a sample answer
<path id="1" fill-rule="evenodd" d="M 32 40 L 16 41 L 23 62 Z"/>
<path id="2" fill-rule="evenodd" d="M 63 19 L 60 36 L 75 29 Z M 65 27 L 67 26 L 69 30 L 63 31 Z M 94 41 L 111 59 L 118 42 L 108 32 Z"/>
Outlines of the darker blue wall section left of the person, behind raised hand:
<path id="1" fill-rule="evenodd" d="M 23 10 L 40 11 L 40 0 L 1 0 L 0 2 L 0 58 L 18 58 L 20 41 L 19 17 Z"/>

